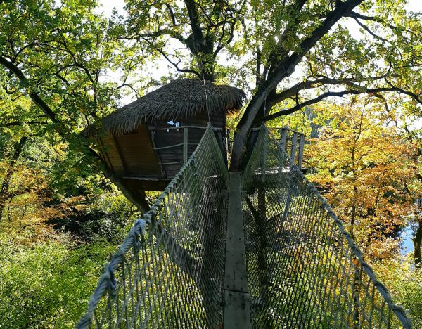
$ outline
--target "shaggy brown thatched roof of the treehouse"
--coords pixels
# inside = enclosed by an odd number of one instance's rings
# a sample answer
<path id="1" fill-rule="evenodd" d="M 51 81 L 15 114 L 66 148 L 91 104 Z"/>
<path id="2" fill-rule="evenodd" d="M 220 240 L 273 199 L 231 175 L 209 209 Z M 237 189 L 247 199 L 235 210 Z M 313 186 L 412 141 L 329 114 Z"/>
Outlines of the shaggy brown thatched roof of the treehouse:
<path id="1" fill-rule="evenodd" d="M 177 122 L 195 116 L 206 108 L 213 113 L 225 110 L 234 112 L 241 108 L 245 93 L 238 88 L 205 82 L 199 79 L 179 79 L 152 91 L 133 103 L 96 122 L 82 134 L 89 136 L 94 132 L 120 135 L 133 131 L 142 122 Z"/>

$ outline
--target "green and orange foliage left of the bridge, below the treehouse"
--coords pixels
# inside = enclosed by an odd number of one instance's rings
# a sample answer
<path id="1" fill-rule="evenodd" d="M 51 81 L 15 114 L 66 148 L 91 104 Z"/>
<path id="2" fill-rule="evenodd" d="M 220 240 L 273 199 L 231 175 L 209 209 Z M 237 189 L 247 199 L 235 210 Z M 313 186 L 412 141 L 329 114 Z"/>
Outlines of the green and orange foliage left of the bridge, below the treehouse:
<path id="1" fill-rule="evenodd" d="M 136 212 L 102 176 L 60 181 L 63 144 L 33 138 L 13 168 L 4 145 L 14 196 L 0 218 L 0 328 L 74 328 Z"/>

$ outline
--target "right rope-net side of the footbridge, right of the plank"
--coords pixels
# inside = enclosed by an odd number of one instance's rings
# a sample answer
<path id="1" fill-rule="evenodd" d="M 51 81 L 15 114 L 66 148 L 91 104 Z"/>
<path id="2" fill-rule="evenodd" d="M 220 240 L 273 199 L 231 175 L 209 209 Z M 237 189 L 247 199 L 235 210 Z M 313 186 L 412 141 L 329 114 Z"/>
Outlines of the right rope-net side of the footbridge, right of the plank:
<path id="1" fill-rule="evenodd" d="M 324 198 L 262 127 L 242 175 L 253 328 L 409 328 Z"/>

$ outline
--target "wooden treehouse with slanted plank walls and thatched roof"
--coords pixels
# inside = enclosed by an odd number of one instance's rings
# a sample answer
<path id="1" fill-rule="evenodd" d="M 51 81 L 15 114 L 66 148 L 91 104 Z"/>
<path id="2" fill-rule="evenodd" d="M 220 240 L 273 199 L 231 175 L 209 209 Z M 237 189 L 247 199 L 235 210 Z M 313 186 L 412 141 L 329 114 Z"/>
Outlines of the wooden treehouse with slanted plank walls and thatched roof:
<path id="1" fill-rule="evenodd" d="M 170 82 L 82 132 L 135 199 L 144 200 L 144 191 L 164 190 L 196 149 L 208 121 L 226 159 L 226 115 L 241 108 L 245 93 L 212 82 L 205 86 L 198 79 Z"/>

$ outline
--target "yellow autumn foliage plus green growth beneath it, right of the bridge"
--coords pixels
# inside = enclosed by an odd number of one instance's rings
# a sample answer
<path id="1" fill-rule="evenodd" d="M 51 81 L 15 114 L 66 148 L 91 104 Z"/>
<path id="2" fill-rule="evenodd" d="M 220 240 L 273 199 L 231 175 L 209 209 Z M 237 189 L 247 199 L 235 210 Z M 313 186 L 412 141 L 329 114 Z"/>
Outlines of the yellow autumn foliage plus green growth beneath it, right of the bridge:
<path id="1" fill-rule="evenodd" d="M 414 327 L 422 325 L 422 272 L 409 254 L 399 255 L 399 226 L 420 209 L 418 132 L 406 131 L 400 111 L 385 113 L 377 103 L 324 104 L 313 109 L 319 136 L 308 146 L 308 175 L 343 219 Z M 406 120 L 411 120 L 407 117 Z M 395 125 L 390 124 L 395 122 Z"/>

